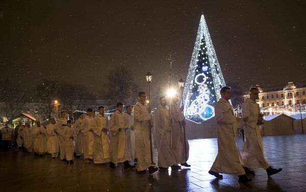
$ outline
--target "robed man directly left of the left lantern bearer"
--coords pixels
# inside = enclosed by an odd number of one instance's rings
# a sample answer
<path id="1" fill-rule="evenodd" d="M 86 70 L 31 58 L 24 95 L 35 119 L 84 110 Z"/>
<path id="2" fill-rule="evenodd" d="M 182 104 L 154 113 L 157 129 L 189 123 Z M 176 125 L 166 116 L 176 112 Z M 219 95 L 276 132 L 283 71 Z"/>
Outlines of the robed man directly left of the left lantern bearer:
<path id="1" fill-rule="evenodd" d="M 134 166 L 134 160 L 136 159 L 136 149 L 135 149 L 135 133 L 134 133 L 134 115 L 132 115 L 132 107 L 127 105 L 125 107 L 125 125 L 128 128 L 125 131 L 127 150 L 131 155 L 132 160 L 129 162 L 131 166 Z"/>

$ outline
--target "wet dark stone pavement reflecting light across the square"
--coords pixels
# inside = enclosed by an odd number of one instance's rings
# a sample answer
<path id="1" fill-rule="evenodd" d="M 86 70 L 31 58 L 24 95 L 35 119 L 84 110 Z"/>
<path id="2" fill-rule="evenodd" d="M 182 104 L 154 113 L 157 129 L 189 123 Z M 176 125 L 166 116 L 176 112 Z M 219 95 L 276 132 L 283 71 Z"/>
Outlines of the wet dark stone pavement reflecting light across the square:
<path id="1" fill-rule="evenodd" d="M 255 175 L 248 175 L 253 179 L 250 183 L 239 183 L 237 176 L 223 174 L 223 179 L 216 179 L 208 174 L 217 154 L 216 139 L 189 143 L 190 169 L 158 171 L 151 176 L 120 165 L 113 170 L 80 159 L 66 164 L 47 155 L 1 149 L 0 191 L 306 191 L 306 134 L 264 136 L 268 162 L 283 171 L 267 177 L 265 170 L 255 169 Z"/>

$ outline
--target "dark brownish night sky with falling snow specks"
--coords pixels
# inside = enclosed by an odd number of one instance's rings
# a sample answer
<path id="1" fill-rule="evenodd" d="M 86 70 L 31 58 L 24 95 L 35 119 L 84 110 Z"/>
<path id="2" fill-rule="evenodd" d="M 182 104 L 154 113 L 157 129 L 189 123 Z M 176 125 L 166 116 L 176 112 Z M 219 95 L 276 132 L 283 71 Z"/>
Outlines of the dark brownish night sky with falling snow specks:
<path id="1" fill-rule="evenodd" d="M 306 1 L 2 1 L 0 68 L 22 87 L 43 78 L 95 93 L 109 71 L 130 68 L 141 89 L 186 79 L 201 13 L 225 83 L 305 81 Z"/>

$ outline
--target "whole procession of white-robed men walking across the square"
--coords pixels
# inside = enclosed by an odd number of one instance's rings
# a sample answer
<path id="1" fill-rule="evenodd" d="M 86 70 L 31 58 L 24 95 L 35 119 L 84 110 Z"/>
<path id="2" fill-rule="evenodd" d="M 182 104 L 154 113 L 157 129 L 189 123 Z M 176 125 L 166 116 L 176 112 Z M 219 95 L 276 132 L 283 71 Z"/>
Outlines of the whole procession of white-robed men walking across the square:
<path id="1" fill-rule="evenodd" d="M 254 173 L 249 168 L 263 168 L 267 175 L 276 174 L 282 169 L 271 167 L 264 157 L 259 125 L 263 122 L 259 105 L 256 103 L 258 89 L 249 89 L 250 98 L 242 105 L 242 118 L 234 115 L 230 103 L 231 88 L 220 90 L 221 98 L 215 106 L 217 121 L 218 154 L 209 174 L 222 179 L 224 174 L 238 175 L 239 182 L 250 182 L 246 173 Z M 87 113 L 79 114 L 74 124 L 60 113 L 60 118 L 50 119 L 44 128 L 40 119 L 36 119 L 31 127 L 28 121 L 22 121 L 14 132 L 5 124 L 1 130 L 5 149 L 9 143 L 24 148 L 37 156 L 49 154 L 51 158 L 59 157 L 62 161 L 72 164 L 74 156 L 85 163 L 108 164 L 116 169 L 123 164 L 124 169 L 135 169 L 137 173 L 152 174 L 158 170 L 181 170 L 191 167 L 189 144 L 185 134 L 185 117 L 183 107 L 174 96 L 159 99 L 159 106 L 154 115 L 146 103 L 146 93 L 138 93 L 138 102 L 134 106 L 116 104 L 116 111 L 108 116 L 105 107 L 88 108 Z M 169 103 L 171 105 L 169 107 Z M 123 112 L 125 109 L 125 112 Z M 237 122 L 244 125 L 245 142 L 242 155 L 237 144 Z M 154 141 L 153 141 L 154 140 Z M 157 149 L 157 166 L 153 161 L 152 151 Z"/>

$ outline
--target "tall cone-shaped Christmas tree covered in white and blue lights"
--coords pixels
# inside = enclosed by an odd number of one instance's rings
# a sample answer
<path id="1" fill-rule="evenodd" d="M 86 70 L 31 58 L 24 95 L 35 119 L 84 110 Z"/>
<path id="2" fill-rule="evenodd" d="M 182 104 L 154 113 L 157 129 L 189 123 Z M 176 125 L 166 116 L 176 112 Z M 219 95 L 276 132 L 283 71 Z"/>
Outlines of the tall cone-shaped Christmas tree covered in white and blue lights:
<path id="1" fill-rule="evenodd" d="M 214 106 L 221 97 L 223 86 L 225 82 L 216 52 L 201 15 L 183 94 L 186 118 L 201 123 L 214 117 Z"/>

